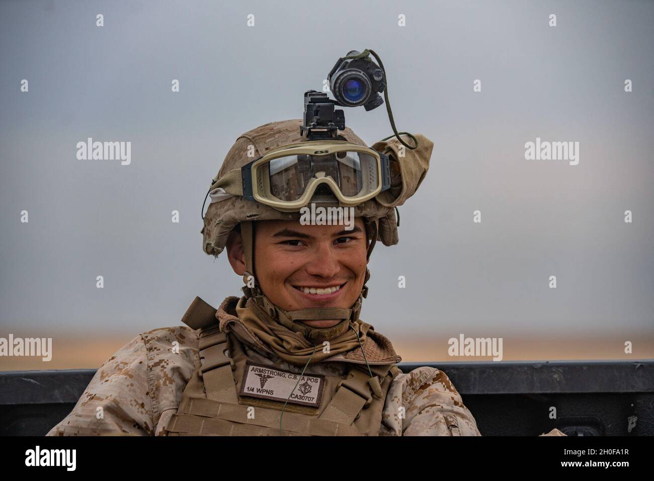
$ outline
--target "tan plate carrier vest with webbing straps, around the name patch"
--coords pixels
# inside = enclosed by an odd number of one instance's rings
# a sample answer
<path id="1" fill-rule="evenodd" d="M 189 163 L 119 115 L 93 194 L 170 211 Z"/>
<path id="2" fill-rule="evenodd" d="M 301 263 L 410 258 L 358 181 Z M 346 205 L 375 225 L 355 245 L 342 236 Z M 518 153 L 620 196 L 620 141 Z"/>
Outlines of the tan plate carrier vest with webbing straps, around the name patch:
<path id="1" fill-rule="evenodd" d="M 281 435 L 284 402 L 238 394 L 248 357 L 239 338 L 232 332 L 220 332 L 216 309 L 196 297 L 182 321 L 199 330 L 201 365 L 184 389 L 177 414 L 167 427 L 168 435 Z M 271 368 L 281 368 L 279 363 L 266 361 Z M 388 387 L 400 369 L 394 364 L 370 365 L 370 377 L 365 364 L 343 360 L 331 363 L 338 364 L 339 370 L 343 370 L 343 364 L 347 368 L 341 376 L 314 374 L 307 368 L 307 375 L 324 376 L 320 405 L 315 408 L 286 404 L 284 436 L 379 435 Z"/>

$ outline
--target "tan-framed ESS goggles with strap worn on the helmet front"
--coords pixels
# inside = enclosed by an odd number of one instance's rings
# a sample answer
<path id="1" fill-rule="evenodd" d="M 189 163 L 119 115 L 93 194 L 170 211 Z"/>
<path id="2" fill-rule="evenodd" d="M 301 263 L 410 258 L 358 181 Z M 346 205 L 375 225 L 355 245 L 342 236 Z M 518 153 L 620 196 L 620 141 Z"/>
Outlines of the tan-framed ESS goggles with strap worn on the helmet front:
<path id="1" fill-rule="evenodd" d="M 324 187 L 341 204 L 357 205 L 390 187 L 390 167 L 388 156 L 347 141 L 300 142 L 229 171 L 216 187 L 286 212 L 300 210 Z"/>

